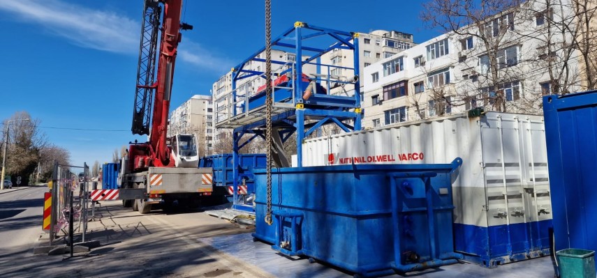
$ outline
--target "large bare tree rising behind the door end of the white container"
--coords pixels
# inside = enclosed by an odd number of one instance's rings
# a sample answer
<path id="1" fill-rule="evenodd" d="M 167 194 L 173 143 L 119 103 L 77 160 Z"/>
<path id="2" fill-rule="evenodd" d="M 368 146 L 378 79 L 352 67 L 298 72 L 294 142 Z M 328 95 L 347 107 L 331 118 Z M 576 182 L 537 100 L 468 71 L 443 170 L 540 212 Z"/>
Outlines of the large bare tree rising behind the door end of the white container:
<path id="1" fill-rule="evenodd" d="M 462 85 L 452 105 L 481 101 L 496 111 L 524 110 L 537 99 L 530 95 L 529 104 L 522 98 L 522 65 L 528 61 L 522 58 L 526 50 L 519 47 L 522 36 L 516 32 L 520 5 L 519 0 L 432 0 L 424 4 L 422 19 L 462 46 L 458 62 L 465 73 L 462 80 L 454 80 Z"/>

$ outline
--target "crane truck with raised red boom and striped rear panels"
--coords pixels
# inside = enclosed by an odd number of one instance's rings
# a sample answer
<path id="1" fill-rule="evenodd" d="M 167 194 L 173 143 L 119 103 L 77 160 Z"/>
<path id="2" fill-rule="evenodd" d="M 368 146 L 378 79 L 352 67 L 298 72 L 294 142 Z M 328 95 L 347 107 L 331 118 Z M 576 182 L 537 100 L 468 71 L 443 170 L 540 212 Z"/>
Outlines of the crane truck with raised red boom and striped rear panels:
<path id="1" fill-rule="evenodd" d="M 196 137 L 193 134 L 168 137 L 172 77 L 177 46 L 182 39 L 180 30 L 193 29 L 180 22 L 181 10 L 182 0 L 145 0 L 131 131 L 148 135 L 149 139 L 145 143 L 136 140 L 130 143 L 121 159 L 118 177 L 121 192 L 141 192 L 134 196 L 121 194 L 123 206 L 142 214 L 149 213 L 155 205 L 164 209 L 198 206 L 202 196 L 213 192 L 212 169 L 198 168 Z"/>

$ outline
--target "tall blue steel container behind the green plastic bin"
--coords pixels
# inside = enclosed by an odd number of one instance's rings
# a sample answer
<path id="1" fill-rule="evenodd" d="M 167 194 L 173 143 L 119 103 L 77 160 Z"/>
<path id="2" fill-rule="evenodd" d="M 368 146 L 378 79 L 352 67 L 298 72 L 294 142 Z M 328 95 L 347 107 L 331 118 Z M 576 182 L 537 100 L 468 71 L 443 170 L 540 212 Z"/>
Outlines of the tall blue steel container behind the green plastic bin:
<path id="1" fill-rule="evenodd" d="M 555 251 L 597 250 L 597 91 L 543 98 Z"/>

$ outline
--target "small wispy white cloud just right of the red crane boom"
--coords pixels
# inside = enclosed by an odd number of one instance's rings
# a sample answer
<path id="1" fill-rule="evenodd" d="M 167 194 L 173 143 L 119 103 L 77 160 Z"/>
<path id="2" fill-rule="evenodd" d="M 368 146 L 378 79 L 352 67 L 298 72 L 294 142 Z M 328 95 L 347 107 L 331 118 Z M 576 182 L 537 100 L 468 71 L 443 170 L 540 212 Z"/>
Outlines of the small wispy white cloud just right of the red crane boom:
<path id="1" fill-rule="evenodd" d="M 210 70 L 217 74 L 227 72 L 236 65 L 232 60 L 223 56 L 216 56 L 216 54 L 208 52 L 198 43 L 185 39 L 184 36 L 182 37 L 182 43 L 179 45 L 177 56 L 182 61 L 197 66 L 200 70 Z"/>

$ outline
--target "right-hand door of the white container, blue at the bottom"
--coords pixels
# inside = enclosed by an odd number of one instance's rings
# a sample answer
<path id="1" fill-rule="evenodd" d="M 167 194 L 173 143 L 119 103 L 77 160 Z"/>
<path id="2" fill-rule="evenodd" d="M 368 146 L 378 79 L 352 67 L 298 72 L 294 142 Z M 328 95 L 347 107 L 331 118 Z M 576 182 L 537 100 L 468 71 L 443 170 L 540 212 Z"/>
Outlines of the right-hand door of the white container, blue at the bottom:
<path id="1" fill-rule="evenodd" d="M 524 126 L 524 193 L 525 210 L 529 215 L 531 249 L 550 247 L 549 229 L 552 226 L 552 206 L 547 148 L 543 118 L 525 118 Z"/>

